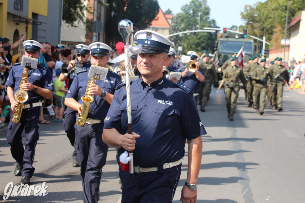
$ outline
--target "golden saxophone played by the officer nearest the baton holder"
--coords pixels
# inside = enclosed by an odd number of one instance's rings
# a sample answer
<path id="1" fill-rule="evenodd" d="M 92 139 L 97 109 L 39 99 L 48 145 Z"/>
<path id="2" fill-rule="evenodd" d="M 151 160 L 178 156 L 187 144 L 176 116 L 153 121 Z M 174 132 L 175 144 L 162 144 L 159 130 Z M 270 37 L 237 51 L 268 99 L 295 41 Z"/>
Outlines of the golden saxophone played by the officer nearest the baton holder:
<path id="1" fill-rule="evenodd" d="M 97 66 L 97 64 L 95 64 Z M 95 75 L 96 77 L 89 77 L 88 84 L 86 87 L 85 95 L 81 97 L 81 101 L 83 101 L 83 105 L 79 107 L 77 119 L 76 119 L 76 125 L 79 125 L 83 127 L 86 123 L 87 116 L 89 113 L 89 107 L 90 103 L 93 102 L 93 96 L 89 93 L 89 88 L 91 84 L 95 84 L 95 81 L 98 78 L 99 75 Z"/>

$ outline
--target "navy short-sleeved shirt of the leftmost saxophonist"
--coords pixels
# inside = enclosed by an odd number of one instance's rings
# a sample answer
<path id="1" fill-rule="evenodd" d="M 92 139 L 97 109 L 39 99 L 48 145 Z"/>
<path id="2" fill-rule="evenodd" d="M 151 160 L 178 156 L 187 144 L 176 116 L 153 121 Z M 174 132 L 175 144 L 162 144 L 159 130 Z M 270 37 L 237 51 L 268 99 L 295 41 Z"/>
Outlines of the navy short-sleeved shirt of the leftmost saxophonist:
<path id="1" fill-rule="evenodd" d="M 15 63 L 9 72 L 9 77 L 6 80 L 6 85 L 14 88 L 14 94 L 19 90 L 20 81 L 22 77 L 23 66 L 21 63 Z M 37 69 L 30 68 L 27 72 L 27 82 L 32 83 L 41 88 L 54 90 L 52 74 L 49 68 L 38 63 Z M 27 91 L 29 98 L 24 104 L 36 103 L 43 100 L 43 96 L 34 91 Z"/>

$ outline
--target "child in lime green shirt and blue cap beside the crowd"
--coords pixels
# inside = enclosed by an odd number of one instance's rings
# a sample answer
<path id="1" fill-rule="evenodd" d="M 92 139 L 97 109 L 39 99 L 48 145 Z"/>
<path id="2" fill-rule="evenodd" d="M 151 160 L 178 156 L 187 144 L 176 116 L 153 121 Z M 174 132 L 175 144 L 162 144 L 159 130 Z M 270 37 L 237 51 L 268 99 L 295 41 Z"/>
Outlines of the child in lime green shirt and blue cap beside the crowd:
<path id="1" fill-rule="evenodd" d="M 59 75 L 61 69 L 56 70 L 56 79 L 54 80 L 54 99 L 55 99 L 55 121 L 63 122 L 63 112 L 65 110 L 65 93 L 68 93 L 68 90 L 65 89 L 65 86 L 62 81 L 60 81 Z"/>

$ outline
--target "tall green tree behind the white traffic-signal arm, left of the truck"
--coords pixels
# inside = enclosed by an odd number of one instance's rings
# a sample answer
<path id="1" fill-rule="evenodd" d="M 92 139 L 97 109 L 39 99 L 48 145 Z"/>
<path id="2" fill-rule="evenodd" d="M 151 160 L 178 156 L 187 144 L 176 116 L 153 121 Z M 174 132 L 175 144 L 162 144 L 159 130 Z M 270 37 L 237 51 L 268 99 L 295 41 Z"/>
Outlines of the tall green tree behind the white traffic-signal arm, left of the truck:
<path id="1" fill-rule="evenodd" d="M 172 27 L 170 34 L 177 32 L 192 30 L 198 30 L 198 13 L 200 13 L 200 29 L 203 27 L 217 27 L 214 19 L 210 20 L 210 7 L 206 5 L 206 0 L 192 0 L 189 4 L 182 5 L 181 12 L 173 17 Z M 182 34 L 169 37 L 174 42 L 175 46 L 183 46 L 184 53 L 188 51 L 195 51 L 201 53 L 202 50 L 213 51 L 214 41 L 216 36 L 214 33 L 209 32 L 196 32 L 192 34 Z M 177 49 L 177 48 L 176 48 Z"/>

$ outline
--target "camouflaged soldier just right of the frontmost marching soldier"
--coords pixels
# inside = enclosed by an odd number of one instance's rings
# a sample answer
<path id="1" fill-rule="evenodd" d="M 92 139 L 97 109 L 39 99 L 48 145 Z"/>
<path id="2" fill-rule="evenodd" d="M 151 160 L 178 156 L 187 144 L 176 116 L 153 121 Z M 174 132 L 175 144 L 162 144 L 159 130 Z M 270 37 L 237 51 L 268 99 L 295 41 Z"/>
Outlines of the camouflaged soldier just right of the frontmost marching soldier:
<path id="1" fill-rule="evenodd" d="M 248 99 L 248 107 L 253 106 L 253 85 L 255 81 L 251 79 L 251 73 L 253 70 L 258 67 L 260 64 L 258 60 L 260 59 L 260 55 L 253 56 L 252 63 L 249 63 L 249 66 L 245 66 L 242 71 L 244 72 L 246 79 L 247 79 L 247 99 Z"/>

